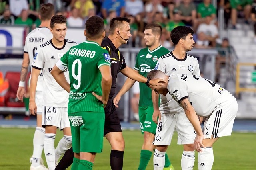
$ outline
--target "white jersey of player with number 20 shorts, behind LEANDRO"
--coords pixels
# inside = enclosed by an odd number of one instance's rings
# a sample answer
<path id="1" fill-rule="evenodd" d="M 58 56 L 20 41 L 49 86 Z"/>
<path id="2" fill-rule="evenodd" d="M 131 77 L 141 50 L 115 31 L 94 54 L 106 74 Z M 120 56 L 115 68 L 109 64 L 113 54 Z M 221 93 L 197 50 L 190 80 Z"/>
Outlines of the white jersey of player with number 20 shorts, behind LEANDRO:
<path id="1" fill-rule="evenodd" d="M 52 40 L 40 45 L 37 49 L 32 67 L 43 71 L 43 105 L 52 107 L 68 107 L 68 92 L 64 90 L 50 74 L 60 58 L 74 45 L 74 41 L 64 40 L 62 48 L 53 45 Z M 69 82 L 68 71 L 64 72 Z"/>

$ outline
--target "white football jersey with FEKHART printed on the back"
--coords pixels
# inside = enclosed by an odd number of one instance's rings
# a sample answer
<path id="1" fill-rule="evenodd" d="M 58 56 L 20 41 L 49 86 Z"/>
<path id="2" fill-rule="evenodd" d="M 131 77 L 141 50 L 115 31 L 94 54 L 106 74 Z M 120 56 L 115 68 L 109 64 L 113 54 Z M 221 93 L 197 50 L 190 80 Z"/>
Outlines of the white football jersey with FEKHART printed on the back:
<path id="1" fill-rule="evenodd" d="M 50 29 L 47 27 L 38 27 L 28 34 L 25 41 L 24 53 L 28 53 L 30 66 L 32 65 L 32 62 L 34 60 L 34 55 L 38 47 L 43 43 L 45 43 L 46 41 L 49 41 L 50 39 L 52 39 L 52 33 Z M 43 90 L 43 74 L 41 71 L 40 75 L 38 76 L 36 91 L 42 91 L 42 90 Z"/>

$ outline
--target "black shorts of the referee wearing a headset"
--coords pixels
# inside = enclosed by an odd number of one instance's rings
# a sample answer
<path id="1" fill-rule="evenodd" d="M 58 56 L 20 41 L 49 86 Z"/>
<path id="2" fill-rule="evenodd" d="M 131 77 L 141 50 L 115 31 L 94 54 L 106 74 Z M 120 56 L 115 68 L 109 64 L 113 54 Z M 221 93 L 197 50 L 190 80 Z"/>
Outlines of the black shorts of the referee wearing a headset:
<path id="1" fill-rule="evenodd" d="M 108 104 L 105 107 L 105 125 L 104 136 L 110 132 L 122 132 L 119 117 L 116 113 L 116 106 L 113 99 L 108 99 Z"/>

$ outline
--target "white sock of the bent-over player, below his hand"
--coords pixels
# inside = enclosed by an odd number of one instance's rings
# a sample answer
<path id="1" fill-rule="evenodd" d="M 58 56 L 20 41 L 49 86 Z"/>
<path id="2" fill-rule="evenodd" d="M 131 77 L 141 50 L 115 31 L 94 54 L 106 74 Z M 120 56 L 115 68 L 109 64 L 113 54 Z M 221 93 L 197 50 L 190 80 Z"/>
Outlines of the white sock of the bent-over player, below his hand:
<path id="1" fill-rule="evenodd" d="M 212 147 L 202 148 L 202 153 L 198 153 L 198 170 L 211 170 L 213 165 Z"/>

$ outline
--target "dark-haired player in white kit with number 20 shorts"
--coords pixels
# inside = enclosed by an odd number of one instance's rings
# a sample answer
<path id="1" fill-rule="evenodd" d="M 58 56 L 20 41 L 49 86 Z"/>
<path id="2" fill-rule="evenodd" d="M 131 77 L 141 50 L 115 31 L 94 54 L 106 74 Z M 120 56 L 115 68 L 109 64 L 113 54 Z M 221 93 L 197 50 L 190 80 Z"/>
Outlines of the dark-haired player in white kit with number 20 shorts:
<path id="1" fill-rule="evenodd" d="M 44 153 L 49 170 L 54 170 L 60 156 L 71 147 L 72 137 L 68 119 L 68 92 L 66 92 L 52 77 L 50 71 L 60 58 L 74 45 L 75 42 L 65 39 L 66 18 L 62 15 L 51 19 L 53 38 L 40 45 L 32 62 L 32 78 L 30 84 L 30 114 L 36 111 L 34 92 L 40 70 L 43 72 L 43 115 L 42 126 L 45 127 Z M 65 73 L 68 80 L 68 72 Z M 58 143 L 54 152 L 56 129 L 63 130 L 64 137 Z"/>

